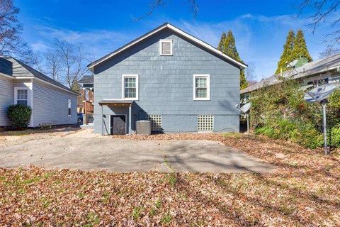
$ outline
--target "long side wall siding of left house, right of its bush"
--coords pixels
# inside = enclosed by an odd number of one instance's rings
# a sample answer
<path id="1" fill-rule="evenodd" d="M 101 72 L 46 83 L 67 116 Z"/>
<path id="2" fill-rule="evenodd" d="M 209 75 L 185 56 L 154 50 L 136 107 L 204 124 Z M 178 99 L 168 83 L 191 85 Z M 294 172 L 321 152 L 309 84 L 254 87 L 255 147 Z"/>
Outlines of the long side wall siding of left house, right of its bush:
<path id="1" fill-rule="evenodd" d="M 68 116 L 71 99 L 71 116 Z M 77 96 L 33 79 L 33 126 L 77 123 Z"/>

